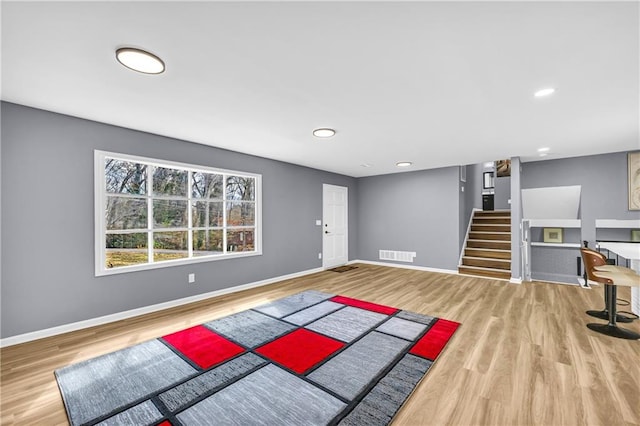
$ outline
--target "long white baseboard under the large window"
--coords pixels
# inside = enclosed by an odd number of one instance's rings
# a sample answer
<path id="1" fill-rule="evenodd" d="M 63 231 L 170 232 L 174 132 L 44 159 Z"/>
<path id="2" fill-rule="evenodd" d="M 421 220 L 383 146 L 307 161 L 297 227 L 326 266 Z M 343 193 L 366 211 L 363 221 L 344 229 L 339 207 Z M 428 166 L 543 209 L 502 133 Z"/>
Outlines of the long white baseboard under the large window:
<path id="1" fill-rule="evenodd" d="M 316 272 L 322 272 L 322 271 L 324 271 L 323 268 L 309 269 L 306 271 L 295 272 L 293 274 L 282 275 L 279 277 L 269 278 L 262 281 L 242 284 L 235 287 L 223 288 L 221 290 L 215 290 L 209 293 L 197 294 L 195 296 L 189 296 L 189 297 L 185 297 L 177 300 L 170 300 L 168 302 L 158 303 L 156 305 L 143 306 L 141 308 L 131 309 L 129 311 L 118 312 L 115 314 L 105 315 L 97 318 L 91 318 L 84 321 L 78 321 L 70 324 L 59 325 L 56 327 L 51 327 L 44 330 L 32 331 L 30 333 L 19 334 L 16 336 L 5 337 L 4 339 L 0 339 L 0 348 L 4 348 L 6 346 L 18 345 L 20 343 L 26 343 L 33 340 L 44 339 L 45 337 L 57 336 L 58 334 L 69 333 L 71 331 L 82 330 L 84 328 L 95 327 L 97 325 L 108 324 L 110 322 L 137 317 L 140 315 L 149 314 L 151 312 L 161 311 L 163 309 L 169 309 L 176 306 L 186 305 L 188 303 L 199 302 L 201 300 L 209 299 L 211 297 L 222 296 L 229 293 L 248 290 L 250 288 L 262 287 L 268 284 L 276 283 L 278 281 L 284 281 L 291 278 L 298 278 L 298 277 L 315 274 Z"/>

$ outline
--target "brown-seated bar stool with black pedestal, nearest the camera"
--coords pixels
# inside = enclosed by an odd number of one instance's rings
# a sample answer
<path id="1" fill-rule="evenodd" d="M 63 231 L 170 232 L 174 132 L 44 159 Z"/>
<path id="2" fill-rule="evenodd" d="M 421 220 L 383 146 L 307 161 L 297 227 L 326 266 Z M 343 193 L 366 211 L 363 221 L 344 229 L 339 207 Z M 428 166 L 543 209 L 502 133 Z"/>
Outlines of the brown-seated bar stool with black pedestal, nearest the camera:
<path id="1" fill-rule="evenodd" d="M 587 324 L 587 327 L 589 327 L 590 330 L 606 334 L 607 336 L 630 340 L 640 339 L 640 334 L 631 330 L 625 330 L 624 328 L 620 328 L 616 325 L 617 287 L 619 285 L 626 287 L 640 287 L 640 275 L 636 274 L 631 269 L 615 267 L 612 265 L 596 266 L 592 273 L 596 277 L 610 280 L 612 283 L 606 286 L 609 293 L 609 306 L 607 307 L 609 311 L 609 323 L 589 323 Z"/>

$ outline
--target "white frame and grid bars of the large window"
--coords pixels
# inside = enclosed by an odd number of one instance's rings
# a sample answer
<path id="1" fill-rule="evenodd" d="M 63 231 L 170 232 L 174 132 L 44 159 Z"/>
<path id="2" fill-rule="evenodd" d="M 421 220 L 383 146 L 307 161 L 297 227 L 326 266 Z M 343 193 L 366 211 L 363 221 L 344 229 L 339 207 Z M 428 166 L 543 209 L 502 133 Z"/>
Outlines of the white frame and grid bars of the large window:
<path id="1" fill-rule="evenodd" d="M 182 169 L 189 172 L 188 179 L 188 216 L 189 223 L 187 224 L 187 228 L 169 228 L 166 231 L 188 231 L 188 251 L 189 256 L 192 256 L 192 232 L 193 227 L 191 223 L 191 173 L 193 172 L 202 172 L 202 173 L 211 173 L 211 174 L 222 174 L 222 175 L 232 175 L 232 176 L 241 176 L 241 177 L 251 177 L 255 179 L 255 224 L 253 226 L 246 226 L 246 228 L 254 229 L 254 251 L 247 252 L 236 252 L 236 251 L 228 251 L 227 250 L 227 233 L 226 230 L 228 228 L 231 229 L 242 229 L 242 226 L 233 226 L 227 227 L 227 217 L 226 217 L 226 208 L 223 204 L 224 211 L 224 223 L 221 227 L 223 230 L 223 253 L 208 255 L 208 256 L 198 256 L 198 257 L 188 257 L 185 259 L 174 259 L 174 260 L 163 260 L 161 262 L 153 261 L 153 244 L 152 242 L 148 244 L 147 249 L 150 251 L 149 261 L 148 263 L 138 264 L 138 265 L 130 265 L 130 266 L 121 266 L 118 268 L 107 268 L 105 265 L 106 259 L 106 220 L 105 220 L 105 206 L 107 202 L 107 189 L 106 189 L 106 180 L 105 180 L 105 160 L 107 158 L 113 158 L 117 160 L 130 161 L 135 163 L 146 164 L 151 167 L 166 167 L 173 169 Z M 149 172 L 149 171 L 148 171 Z M 147 183 L 149 185 L 149 182 Z M 148 188 L 148 191 L 151 191 L 151 188 Z M 135 272 L 135 271 L 144 271 L 150 269 L 158 269 L 158 268 L 167 268 L 172 266 L 179 265 L 189 265 L 192 263 L 201 263 L 201 262 L 213 262 L 218 260 L 226 260 L 226 259 L 234 259 L 239 257 L 251 257 L 251 256 L 261 256 L 262 255 L 262 175 L 248 172 L 240 172 L 235 170 L 227 170 L 227 169 L 219 169 L 207 166 L 199 166 L 194 164 L 187 163 L 179 163 L 175 161 L 167 161 L 167 160 L 159 160 L 155 158 L 141 157 L 137 155 L 129 155 L 129 154 L 120 154 L 108 151 L 94 151 L 94 228 L 95 228 L 95 276 L 104 276 L 104 275 L 114 275 L 114 274 L 122 274 L 127 272 Z M 182 198 L 182 197 L 180 197 Z M 153 197 L 149 197 L 150 200 L 153 200 Z M 226 202 L 226 187 L 223 186 L 223 201 Z M 153 217 L 152 214 L 148 214 L 148 225 L 147 229 L 144 232 L 148 232 L 148 235 L 152 235 L 153 227 Z"/>

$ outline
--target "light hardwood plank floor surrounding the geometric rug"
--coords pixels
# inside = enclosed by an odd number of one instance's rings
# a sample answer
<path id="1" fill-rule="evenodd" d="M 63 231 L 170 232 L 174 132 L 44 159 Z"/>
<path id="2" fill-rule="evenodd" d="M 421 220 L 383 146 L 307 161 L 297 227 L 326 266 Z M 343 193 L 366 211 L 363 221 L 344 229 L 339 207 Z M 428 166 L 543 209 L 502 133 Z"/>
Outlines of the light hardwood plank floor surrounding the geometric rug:
<path id="1" fill-rule="evenodd" d="M 59 367 L 306 289 L 462 323 L 394 425 L 640 425 L 640 341 L 586 328 L 602 288 L 364 264 L 3 348 L 2 424 L 66 424 Z"/>

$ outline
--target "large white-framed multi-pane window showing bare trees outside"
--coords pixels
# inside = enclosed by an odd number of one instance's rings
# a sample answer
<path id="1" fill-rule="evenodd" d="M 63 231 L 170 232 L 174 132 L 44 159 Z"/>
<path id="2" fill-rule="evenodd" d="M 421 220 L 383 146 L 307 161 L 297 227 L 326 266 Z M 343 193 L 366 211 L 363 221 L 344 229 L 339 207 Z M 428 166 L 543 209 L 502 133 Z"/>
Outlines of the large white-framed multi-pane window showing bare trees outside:
<path id="1" fill-rule="evenodd" d="M 261 176 L 95 152 L 96 275 L 261 254 Z"/>

